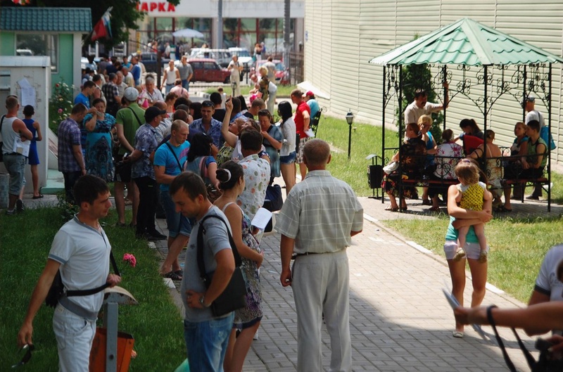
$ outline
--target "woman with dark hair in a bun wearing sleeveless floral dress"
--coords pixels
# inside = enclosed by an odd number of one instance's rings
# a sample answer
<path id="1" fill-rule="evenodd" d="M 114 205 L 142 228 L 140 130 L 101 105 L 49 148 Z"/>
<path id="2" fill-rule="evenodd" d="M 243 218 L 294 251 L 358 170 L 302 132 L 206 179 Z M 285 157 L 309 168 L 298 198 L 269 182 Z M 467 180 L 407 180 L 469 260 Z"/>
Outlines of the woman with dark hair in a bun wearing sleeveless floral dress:
<path id="1" fill-rule="evenodd" d="M 251 347 L 252 339 L 262 319 L 262 294 L 260 290 L 260 274 L 258 268 L 264 257 L 258 240 L 251 231 L 251 221 L 236 205 L 236 197 L 244 190 L 244 173 L 241 165 L 229 160 L 217 169 L 217 179 L 223 192 L 215 200 L 229 219 L 236 250 L 241 255 L 241 269 L 246 276 L 246 307 L 234 312 L 234 323 L 229 338 L 229 346 L 224 357 L 224 370 L 227 372 L 242 371 L 244 359 Z M 236 330 L 241 330 L 236 336 Z"/>

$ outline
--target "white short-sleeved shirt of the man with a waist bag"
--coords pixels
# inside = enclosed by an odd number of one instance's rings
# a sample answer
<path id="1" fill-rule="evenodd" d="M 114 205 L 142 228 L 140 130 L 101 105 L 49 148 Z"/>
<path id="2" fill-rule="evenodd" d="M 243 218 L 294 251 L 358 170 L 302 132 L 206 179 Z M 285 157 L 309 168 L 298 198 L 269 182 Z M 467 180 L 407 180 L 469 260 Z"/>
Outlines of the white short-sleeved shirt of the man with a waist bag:
<path id="1" fill-rule="evenodd" d="M 85 290 L 102 286 L 109 274 L 111 245 L 101 229 L 82 224 L 75 216 L 56 233 L 49 259 L 61 264 L 61 278 L 68 290 Z M 99 312 L 103 291 L 68 300 L 90 312 Z"/>

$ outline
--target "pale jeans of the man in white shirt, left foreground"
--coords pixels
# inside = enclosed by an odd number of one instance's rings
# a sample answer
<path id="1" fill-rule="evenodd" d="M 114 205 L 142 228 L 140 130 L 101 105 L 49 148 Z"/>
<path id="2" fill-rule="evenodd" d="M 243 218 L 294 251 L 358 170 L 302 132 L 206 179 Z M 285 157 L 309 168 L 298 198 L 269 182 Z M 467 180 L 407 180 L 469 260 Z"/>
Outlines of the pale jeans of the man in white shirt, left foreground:
<path id="1" fill-rule="evenodd" d="M 59 371 L 88 372 L 96 321 L 82 318 L 58 304 L 53 314 L 53 331 L 57 340 Z"/>

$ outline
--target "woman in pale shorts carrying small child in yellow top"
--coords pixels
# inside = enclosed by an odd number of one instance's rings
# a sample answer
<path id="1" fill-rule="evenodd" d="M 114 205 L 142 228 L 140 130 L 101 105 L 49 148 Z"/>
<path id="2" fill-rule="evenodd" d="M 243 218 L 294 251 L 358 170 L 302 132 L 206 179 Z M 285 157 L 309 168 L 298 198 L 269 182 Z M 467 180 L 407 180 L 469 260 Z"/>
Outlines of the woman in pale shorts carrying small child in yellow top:
<path id="1" fill-rule="evenodd" d="M 469 184 L 473 185 L 475 177 L 479 179 L 479 167 L 469 159 L 461 160 L 455 168 L 455 173 L 462 184 L 466 186 Z M 482 186 L 477 187 L 482 188 Z M 461 192 L 464 191 L 467 191 L 467 188 L 462 188 Z M 479 306 L 483 301 L 483 297 L 485 297 L 487 261 L 486 253 L 483 254 L 483 249 L 481 248 L 485 248 L 484 252 L 488 252 L 488 247 L 481 247 L 479 238 L 477 238 L 475 234 L 474 226 L 479 226 L 481 229 L 483 224 L 486 224 L 493 218 L 491 214 L 491 197 L 485 198 L 486 193 L 488 193 L 488 191 L 484 189 L 481 194 L 483 195 L 483 200 L 481 201 L 483 205 L 482 210 L 469 210 L 458 205 L 460 198 L 463 198 L 463 196 L 460 195 L 460 186 L 452 185 L 448 188 L 448 214 L 450 214 L 450 225 L 445 234 L 444 252 L 445 258 L 448 261 L 450 276 L 452 277 L 452 294 L 462 306 L 463 292 L 465 289 L 466 259 L 469 263 L 473 284 L 471 307 Z M 464 230 L 464 232 L 467 231 L 467 235 L 464 236 L 465 243 L 462 246 L 458 243 L 460 229 Z M 481 243 L 486 244 L 483 240 Z M 460 249 L 463 254 L 460 254 Z M 483 256 L 485 257 L 484 259 Z M 456 321 L 453 337 L 463 337 L 462 323 Z"/>

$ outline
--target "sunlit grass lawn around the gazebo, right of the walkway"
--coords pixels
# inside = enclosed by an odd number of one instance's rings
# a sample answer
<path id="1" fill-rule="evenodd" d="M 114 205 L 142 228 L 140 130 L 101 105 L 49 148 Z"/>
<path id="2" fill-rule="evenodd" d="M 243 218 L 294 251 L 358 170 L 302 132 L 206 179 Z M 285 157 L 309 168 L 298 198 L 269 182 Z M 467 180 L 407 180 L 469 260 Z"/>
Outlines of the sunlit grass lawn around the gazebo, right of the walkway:
<path id="1" fill-rule="evenodd" d="M 353 127 L 357 129 L 352 132 L 350 160 L 346 120 L 323 116 L 317 137 L 333 146 L 328 166 L 331 173 L 348 182 L 358 196 L 369 196 L 372 190 L 367 186 L 367 165 L 371 161 L 365 158 L 371 153 L 381 154 L 381 127 L 360 123 L 354 123 Z M 386 131 L 386 134 L 386 143 L 397 143 L 396 133 Z M 561 204 L 563 176 L 553 172 L 552 181 L 552 201 Z M 529 298 L 545 252 L 552 245 L 563 242 L 562 218 L 547 216 L 538 219 L 494 219 L 487 224 L 486 233 L 491 246 L 488 281 L 523 302 Z M 443 255 L 443 238 L 448 227 L 445 215 L 431 224 L 423 220 L 401 219 L 385 221 L 384 224 Z"/>

